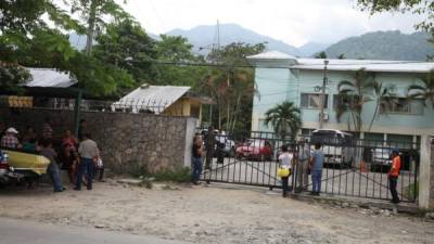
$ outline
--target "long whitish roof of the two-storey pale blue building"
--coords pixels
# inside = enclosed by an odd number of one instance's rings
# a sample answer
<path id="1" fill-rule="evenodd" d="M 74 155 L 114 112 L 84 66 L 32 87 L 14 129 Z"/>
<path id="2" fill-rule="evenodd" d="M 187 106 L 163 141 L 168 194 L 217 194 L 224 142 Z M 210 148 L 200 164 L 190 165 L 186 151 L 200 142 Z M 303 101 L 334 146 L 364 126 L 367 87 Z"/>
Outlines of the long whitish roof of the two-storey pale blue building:
<path id="1" fill-rule="evenodd" d="M 320 70 L 324 68 L 323 59 L 298 59 L 281 52 L 271 51 L 248 56 L 250 60 L 288 60 L 295 61 L 294 65 L 288 65 L 294 69 Z M 369 72 L 387 73 L 429 73 L 434 69 L 432 62 L 414 61 L 385 61 L 385 60 L 329 60 L 329 70 L 355 72 L 365 68 Z M 286 65 L 286 64 L 283 64 Z"/>

